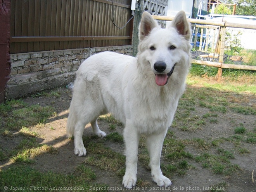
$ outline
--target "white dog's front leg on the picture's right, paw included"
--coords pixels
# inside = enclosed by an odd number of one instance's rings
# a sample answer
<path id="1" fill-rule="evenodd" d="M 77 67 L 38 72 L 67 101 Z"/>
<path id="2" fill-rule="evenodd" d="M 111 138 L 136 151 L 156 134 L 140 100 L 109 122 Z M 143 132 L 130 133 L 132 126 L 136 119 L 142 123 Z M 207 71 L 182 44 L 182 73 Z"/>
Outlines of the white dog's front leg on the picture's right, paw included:
<path id="1" fill-rule="evenodd" d="M 165 135 L 166 131 L 163 131 L 162 133 L 149 135 L 146 138 L 147 149 L 150 156 L 149 166 L 151 168 L 152 179 L 160 187 L 171 185 L 170 179 L 164 176 L 160 169 L 160 157 Z"/>

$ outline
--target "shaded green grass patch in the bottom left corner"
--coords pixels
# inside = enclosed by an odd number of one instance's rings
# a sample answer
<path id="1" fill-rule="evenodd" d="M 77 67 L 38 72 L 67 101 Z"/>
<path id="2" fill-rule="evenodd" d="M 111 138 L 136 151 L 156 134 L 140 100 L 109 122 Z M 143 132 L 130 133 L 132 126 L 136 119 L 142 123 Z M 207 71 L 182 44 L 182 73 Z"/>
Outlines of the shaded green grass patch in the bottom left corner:
<path id="1" fill-rule="evenodd" d="M 40 191 L 68 191 L 67 187 L 76 187 L 79 191 L 89 191 L 90 186 L 92 187 L 106 187 L 105 184 L 96 184 L 91 182 L 95 179 L 95 173 L 89 168 L 83 168 L 82 166 L 76 168 L 79 173 L 78 175 L 40 172 L 29 166 L 11 166 L 6 170 L 0 170 L 0 186 L 12 186 L 14 191 L 16 187 L 24 187 L 22 191 L 29 192 L 31 190 L 40 189 Z M 46 187 L 46 189 L 42 189 Z M 48 188 L 48 189 L 47 189 Z M 77 191 L 78 191 L 77 190 Z M 107 192 L 107 190 L 101 190 Z"/>

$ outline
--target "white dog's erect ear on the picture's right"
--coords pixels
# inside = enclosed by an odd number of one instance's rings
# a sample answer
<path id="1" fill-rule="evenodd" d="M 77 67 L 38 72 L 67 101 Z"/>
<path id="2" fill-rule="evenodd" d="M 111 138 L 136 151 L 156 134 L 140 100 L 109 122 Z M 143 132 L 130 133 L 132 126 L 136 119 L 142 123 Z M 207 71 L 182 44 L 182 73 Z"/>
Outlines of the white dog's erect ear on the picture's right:
<path id="1" fill-rule="evenodd" d="M 180 35 L 185 36 L 185 39 L 189 40 L 191 36 L 190 23 L 187 21 L 184 11 L 180 11 L 176 14 L 172 26 L 178 31 Z"/>

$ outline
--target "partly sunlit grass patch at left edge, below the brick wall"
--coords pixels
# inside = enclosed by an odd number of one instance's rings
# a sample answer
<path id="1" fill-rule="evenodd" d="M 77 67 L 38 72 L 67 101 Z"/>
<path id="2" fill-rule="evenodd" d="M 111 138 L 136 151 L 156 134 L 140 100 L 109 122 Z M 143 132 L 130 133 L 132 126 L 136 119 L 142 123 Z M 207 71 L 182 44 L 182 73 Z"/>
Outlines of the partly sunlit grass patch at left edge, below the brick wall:
<path id="1" fill-rule="evenodd" d="M 34 162 L 33 158 L 42 154 L 57 153 L 54 147 L 39 144 L 36 140 L 39 134 L 29 128 L 55 115 L 53 107 L 29 106 L 21 99 L 10 100 L 0 104 L 0 113 L 3 115 L 3 128 L 0 128 L 0 135 L 12 137 L 14 140 L 16 137 L 23 138 L 17 145 L 13 145 L 11 150 L 1 150 L 0 159 L 30 164 Z"/>

